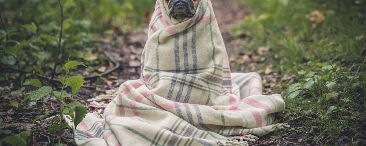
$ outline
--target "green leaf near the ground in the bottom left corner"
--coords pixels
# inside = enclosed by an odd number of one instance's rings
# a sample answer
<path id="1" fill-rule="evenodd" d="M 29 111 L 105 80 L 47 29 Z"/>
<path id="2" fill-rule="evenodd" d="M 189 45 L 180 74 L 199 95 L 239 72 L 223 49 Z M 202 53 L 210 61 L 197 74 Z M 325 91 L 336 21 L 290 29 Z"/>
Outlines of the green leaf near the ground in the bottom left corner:
<path id="1" fill-rule="evenodd" d="M 12 146 L 28 146 L 30 144 L 30 132 L 23 131 L 19 134 L 5 137 L 4 142 Z"/>

